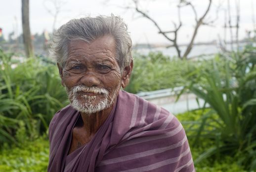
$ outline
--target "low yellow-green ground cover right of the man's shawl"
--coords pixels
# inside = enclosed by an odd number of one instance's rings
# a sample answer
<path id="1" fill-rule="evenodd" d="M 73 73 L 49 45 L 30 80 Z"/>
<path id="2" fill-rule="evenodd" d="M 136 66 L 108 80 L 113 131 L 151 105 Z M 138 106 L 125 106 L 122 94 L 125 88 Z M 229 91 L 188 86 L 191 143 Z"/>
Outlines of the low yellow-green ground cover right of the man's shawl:
<path id="1" fill-rule="evenodd" d="M 216 157 L 204 159 L 201 158 L 202 154 L 216 145 L 216 142 L 207 138 L 195 141 L 194 133 L 201 126 L 200 124 L 203 120 L 202 114 L 208 113 L 209 111 L 210 109 L 195 110 L 177 115 L 177 118 L 181 121 L 183 127 L 185 128 L 195 163 L 196 172 L 246 172 L 244 167 L 237 163 L 237 157 L 230 156 L 229 154 L 221 154 L 221 158 L 219 159 L 216 159 Z M 193 125 L 191 125 L 192 123 Z M 211 130 L 211 126 L 207 127 L 209 130 Z M 201 143 L 200 146 L 195 145 L 195 142 Z M 201 161 L 198 161 L 199 159 L 201 159 Z"/>

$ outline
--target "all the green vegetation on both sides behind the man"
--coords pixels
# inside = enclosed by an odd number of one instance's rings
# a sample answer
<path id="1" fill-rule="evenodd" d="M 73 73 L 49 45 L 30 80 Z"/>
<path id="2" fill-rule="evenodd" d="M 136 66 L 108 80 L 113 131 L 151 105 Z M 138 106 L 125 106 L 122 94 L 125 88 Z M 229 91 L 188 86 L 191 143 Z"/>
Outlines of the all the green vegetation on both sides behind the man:
<path id="1" fill-rule="evenodd" d="M 255 47 L 201 61 L 161 53 L 134 57 L 127 91 L 185 86 L 183 92 L 208 104 L 178 115 L 197 172 L 256 171 Z M 48 141 L 42 135 L 67 103 L 54 64 L 42 58 L 20 62 L 0 51 L 0 171 L 46 170 Z"/>

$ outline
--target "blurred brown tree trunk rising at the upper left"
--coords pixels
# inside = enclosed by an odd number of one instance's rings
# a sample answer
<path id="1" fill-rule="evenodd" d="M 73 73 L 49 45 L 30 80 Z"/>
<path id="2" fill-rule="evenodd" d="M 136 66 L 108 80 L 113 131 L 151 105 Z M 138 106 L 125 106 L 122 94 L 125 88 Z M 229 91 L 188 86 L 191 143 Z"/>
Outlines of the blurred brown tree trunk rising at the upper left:
<path id="1" fill-rule="evenodd" d="M 21 13 L 25 53 L 27 57 L 34 57 L 29 25 L 29 0 L 22 0 Z"/>

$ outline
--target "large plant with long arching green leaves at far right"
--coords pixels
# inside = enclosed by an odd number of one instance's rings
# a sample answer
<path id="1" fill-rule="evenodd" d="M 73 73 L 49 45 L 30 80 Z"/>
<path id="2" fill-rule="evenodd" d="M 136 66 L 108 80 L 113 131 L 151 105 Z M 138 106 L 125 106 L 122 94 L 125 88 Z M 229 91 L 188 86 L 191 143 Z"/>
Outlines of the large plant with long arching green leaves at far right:
<path id="1" fill-rule="evenodd" d="M 248 170 L 256 170 L 256 53 L 251 50 L 215 58 L 212 67 L 200 70 L 186 87 L 211 108 L 195 124 L 193 143 L 210 139 L 215 144 L 195 163 L 228 153 Z"/>

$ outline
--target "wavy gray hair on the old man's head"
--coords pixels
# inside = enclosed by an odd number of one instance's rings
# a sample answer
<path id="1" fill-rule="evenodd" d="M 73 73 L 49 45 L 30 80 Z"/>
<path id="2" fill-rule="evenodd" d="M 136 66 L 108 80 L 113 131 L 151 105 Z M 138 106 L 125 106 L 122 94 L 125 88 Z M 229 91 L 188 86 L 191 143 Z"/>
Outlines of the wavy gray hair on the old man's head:
<path id="1" fill-rule="evenodd" d="M 68 44 L 71 40 L 87 43 L 105 35 L 112 35 L 116 43 L 116 59 L 121 70 L 128 66 L 131 57 L 131 39 L 127 25 L 120 17 L 98 16 L 73 19 L 53 33 L 51 55 L 62 67 L 68 58 Z"/>

